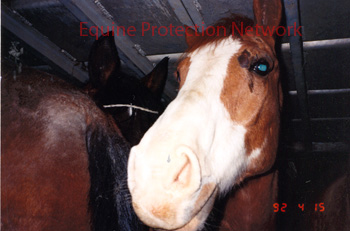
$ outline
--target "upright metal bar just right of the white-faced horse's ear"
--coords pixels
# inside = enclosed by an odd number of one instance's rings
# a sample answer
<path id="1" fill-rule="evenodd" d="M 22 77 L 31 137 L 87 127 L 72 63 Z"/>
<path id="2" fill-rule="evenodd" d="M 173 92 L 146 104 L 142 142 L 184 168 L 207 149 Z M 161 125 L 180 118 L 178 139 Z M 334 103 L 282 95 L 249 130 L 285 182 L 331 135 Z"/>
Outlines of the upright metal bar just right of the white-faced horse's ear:
<path id="1" fill-rule="evenodd" d="M 283 0 L 285 7 L 285 14 L 287 26 L 294 26 L 298 28 L 300 25 L 299 15 L 299 1 L 298 0 Z M 293 31 L 291 34 L 294 34 Z M 303 123 L 303 132 L 301 137 L 305 145 L 311 148 L 311 124 L 308 109 L 307 86 L 304 75 L 304 57 L 303 57 L 303 43 L 301 36 L 295 33 L 295 36 L 289 37 L 290 53 L 292 57 L 292 65 L 294 69 L 294 77 L 296 89 L 298 93 L 298 101 L 300 106 L 300 114 Z"/>

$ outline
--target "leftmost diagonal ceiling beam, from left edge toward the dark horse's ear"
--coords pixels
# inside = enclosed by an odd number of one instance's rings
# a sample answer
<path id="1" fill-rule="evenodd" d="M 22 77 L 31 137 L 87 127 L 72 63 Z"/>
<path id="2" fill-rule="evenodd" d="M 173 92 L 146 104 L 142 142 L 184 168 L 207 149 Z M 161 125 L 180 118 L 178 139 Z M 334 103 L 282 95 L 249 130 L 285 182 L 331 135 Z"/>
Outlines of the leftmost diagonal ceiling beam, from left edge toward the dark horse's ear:
<path id="1" fill-rule="evenodd" d="M 76 66 L 76 63 L 68 58 L 61 48 L 56 46 L 34 28 L 21 22 L 18 16 L 3 4 L 1 4 L 1 19 L 1 26 L 33 47 L 69 75 L 74 76 L 81 82 L 88 80 L 88 73 Z"/>

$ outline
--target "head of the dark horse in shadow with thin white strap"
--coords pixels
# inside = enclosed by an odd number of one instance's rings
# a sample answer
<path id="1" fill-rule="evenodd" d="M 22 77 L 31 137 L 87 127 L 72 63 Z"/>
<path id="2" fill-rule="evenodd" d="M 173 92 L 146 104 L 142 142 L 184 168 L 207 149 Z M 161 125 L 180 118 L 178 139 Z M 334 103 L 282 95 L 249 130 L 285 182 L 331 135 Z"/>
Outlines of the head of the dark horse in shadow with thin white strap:
<path id="1" fill-rule="evenodd" d="M 168 74 L 168 60 L 164 58 L 140 80 L 122 71 L 114 37 L 101 36 L 92 46 L 87 91 L 101 108 L 117 105 L 105 111 L 113 116 L 131 145 L 139 143 L 164 110 L 161 96 Z"/>

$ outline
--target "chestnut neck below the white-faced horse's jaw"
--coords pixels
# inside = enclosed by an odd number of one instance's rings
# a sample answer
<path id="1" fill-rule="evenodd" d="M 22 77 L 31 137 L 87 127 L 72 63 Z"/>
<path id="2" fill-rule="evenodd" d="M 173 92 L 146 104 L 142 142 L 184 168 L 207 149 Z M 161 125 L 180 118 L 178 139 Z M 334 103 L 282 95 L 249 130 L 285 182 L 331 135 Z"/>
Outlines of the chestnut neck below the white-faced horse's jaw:
<path id="1" fill-rule="evenodd" d="M 245 182 L 234 190 L 225 207 L 220 231 L 275 230 L 278 172 Z"/>

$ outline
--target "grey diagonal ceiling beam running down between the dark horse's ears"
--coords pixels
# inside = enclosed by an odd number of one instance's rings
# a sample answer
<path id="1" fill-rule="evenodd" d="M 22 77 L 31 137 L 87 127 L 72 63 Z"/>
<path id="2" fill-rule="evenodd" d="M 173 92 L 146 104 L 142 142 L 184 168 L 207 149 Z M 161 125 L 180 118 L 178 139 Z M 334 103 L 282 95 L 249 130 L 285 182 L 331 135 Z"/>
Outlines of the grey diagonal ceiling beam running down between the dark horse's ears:
<path id="1" fill-rule="evenodd" d="M 72 9 L 72 5 L 68 4 L 69 2 L 73 3 L 86 17 L 89 18 L 100 29 L 103 27 L 103 32 L 107 31 L 107 26 L 109 28 L 117 28 L 118 24 L 113 22 L 111 15 L 108 15 L 106 10 L 102 11 L 96 4 L 100 6 L 99 1 L 91 0 L 60 0 L 68 9 Z M 96 4 L 94 3 L 96 2 Z M 76 13 L 76 10 L 72 10 L 72 13 Z M 77 18 L 81 18 L 81 14 L 76 15 Z M 152 69 L 152 63 L 141 54 L 134 47 L 134 43 L 130 40 L 128 36 L 114 36 L 114 41 L 116 46 L 125 54 L 125 56 L 130 59 L 136 67 L 138 67 L 144 74 L 148 74 Z"/>

